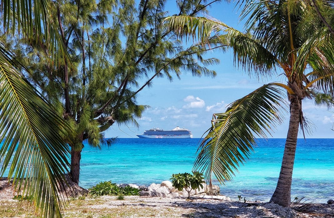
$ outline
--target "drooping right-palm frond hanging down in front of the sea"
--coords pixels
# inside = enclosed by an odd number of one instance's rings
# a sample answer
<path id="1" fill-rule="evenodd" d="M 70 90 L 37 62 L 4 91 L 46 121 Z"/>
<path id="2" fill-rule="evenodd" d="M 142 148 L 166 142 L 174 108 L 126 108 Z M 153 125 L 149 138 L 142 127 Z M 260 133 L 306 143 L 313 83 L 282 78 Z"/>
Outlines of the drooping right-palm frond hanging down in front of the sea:
<path id="1" fill-rule="evenodd" d="M 197 150 L 194 169 L 204 171 L 210 183 L 212 176 L 220 183 L 230 180 L 239 163 L 249 158 L 255 137 L 266 138 L 281 122 L 283 94 L 277 85 L 267 84 L 234 101 L 226 112 L 214 114 L 212 127 Z"/>

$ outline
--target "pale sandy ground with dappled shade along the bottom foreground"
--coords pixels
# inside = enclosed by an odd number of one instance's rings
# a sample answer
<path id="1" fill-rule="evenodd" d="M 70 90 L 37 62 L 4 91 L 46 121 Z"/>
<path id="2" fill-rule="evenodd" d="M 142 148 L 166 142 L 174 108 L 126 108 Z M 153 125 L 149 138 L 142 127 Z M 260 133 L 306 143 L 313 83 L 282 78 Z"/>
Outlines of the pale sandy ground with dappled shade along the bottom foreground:
<path id="1" fill-rule="evenodd" d="M 0 183 L 0 217 L 38 217 L 27 201 L 13 199 L 13 189 L 5 180 Z M 161 198 L 124 196 L 68 198 L 64 208 L 66 218 L 112 217 L 334 217 L 334 206 L 312 204 L 301 213 L 273 203 L 237 202 L 191 197 Z"/>

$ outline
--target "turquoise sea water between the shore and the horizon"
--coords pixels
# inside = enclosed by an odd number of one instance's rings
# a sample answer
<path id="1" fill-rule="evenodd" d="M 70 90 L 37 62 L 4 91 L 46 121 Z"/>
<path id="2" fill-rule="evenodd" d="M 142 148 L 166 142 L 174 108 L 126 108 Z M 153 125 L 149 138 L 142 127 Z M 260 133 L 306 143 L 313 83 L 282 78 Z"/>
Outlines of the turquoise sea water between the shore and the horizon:
<path id="1" fill-rule="evenodd" d="M 191 172 L 199 139 L 119 139 L 102 150 L 85 145 L 80 185 L 100 181 L 149 185 L 168 180 L 173 173 Z M 280 172 L 285 139 L 260 139 L 255 153 L 240 167 L 221 193 L 237 199 L 268 201 Z M 291 196 L 316 202 L 334 198 L 334 139 L 298 140 Z"/>

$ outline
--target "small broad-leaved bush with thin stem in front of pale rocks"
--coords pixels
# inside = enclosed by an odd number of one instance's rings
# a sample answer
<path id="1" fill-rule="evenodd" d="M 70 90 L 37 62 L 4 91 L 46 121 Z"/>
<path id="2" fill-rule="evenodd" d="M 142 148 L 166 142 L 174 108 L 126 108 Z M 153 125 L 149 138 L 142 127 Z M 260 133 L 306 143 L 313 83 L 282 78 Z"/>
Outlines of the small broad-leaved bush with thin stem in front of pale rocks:
<path id="1" fill-rule="evenodd" d="M 199 189 L 200 187 L 203 188 L 202 183 L 205 183 L 203 173 L 192 171 L 190 173 L 178 173 L 173 174 L 172 178 L 172 185 L 179 191 L 182 191 L 183 188 L 188 192 L 188 199 L 190 198 L 190 191 Z"/>

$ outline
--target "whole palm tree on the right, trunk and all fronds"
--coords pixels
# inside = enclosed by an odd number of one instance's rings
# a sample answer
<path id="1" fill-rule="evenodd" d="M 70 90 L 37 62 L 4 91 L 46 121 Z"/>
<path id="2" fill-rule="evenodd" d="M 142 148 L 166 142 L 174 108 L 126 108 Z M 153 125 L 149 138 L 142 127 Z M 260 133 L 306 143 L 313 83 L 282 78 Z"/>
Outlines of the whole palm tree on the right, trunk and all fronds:
<path id="1" fill-rule="evenodd" d="M 332 8 L 324 5 L 322 14 Z M 266 84 L 231 103 L 223 113 L 213 115 L 212 126 L 198 148 L 195 170 L 204 170 L 224 183 L 231 179 L 239 163 L 244 163 L 256 144 L 281 122 L 284 92 L 289 101 L 289 129 L 277 188 L 270 202 L 289 207 L 292 171 L 299 126 L 304 134 L 302 100 L 331 105 L 334 90 L 334 40 L 314 8 L 303 1 L 246 1 L 241 14 L 246 33 L 204 17 L 166 18 L 180 35 L 198 37 L 205 43 L 213 37 L 233 49 L 234 63 L 258 78 L 284 75 L 287 84 Z M 222 32 L 222 34 L 220 34 Z M 249 33 L 252 33 L 249 34 Z"/>

